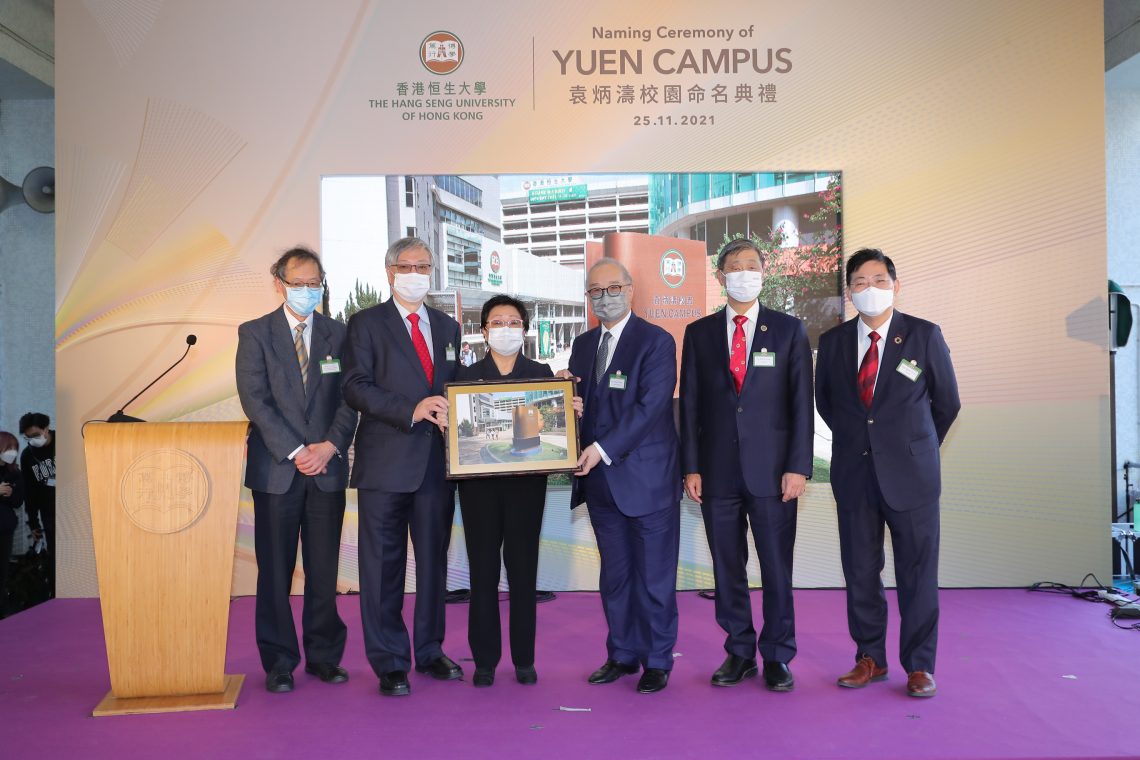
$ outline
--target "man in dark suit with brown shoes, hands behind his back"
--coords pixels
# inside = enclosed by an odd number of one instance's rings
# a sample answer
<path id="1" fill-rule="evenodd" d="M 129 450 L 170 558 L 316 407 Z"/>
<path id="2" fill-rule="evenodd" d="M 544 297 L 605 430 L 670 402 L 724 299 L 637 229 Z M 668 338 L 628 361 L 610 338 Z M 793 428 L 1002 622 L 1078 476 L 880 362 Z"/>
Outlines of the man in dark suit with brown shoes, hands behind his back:
<path id="1" fill-rule="evenodd" d="M 887 678 L 883 524 L 898 585 L 906 693 L 934 696 L 938 641 L 938 448 L 961 402 L 938 326 L 894 309 L 895 264 L 863 248 L 847 261 L 855 319 L 820 337 L 815 398 L 832 433 L 831 490 L 847 581 L 855 668 L 839 685 Z"/>

